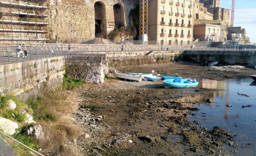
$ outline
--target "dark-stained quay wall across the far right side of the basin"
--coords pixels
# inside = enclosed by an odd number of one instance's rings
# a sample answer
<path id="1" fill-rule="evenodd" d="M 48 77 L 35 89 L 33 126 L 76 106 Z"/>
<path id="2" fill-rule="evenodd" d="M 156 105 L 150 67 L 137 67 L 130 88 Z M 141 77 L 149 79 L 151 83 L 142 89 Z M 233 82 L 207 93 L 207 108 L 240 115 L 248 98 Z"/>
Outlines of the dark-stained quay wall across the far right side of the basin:
<path id="1" fill-rule="evenodd" d="M 219 62 L 256 65 L 256 51 L 184 51 L 180 58 L 187 62 Z"/>

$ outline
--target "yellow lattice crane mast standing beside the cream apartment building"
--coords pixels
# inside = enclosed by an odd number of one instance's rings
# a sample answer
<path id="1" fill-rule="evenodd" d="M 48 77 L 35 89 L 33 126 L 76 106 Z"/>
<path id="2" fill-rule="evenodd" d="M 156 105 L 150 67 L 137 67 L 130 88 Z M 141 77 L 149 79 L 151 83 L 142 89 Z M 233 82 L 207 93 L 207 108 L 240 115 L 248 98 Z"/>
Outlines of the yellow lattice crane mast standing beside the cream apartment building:
<path id="1" fill-rule="evenodd" d="M 140 40 L 148 41 L 148 0 L 140 0 Z"/>

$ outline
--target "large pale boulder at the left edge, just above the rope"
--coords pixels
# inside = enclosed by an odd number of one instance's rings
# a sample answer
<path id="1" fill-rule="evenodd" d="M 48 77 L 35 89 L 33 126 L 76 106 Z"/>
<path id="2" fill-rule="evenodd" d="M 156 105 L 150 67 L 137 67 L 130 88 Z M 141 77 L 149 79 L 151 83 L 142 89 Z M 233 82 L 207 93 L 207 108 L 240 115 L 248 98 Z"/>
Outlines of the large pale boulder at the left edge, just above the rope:
<path id="1" fill-rule="evenodd" d="M 19 128 L 18 124 L 0 117 L 0 129 L 2 129 L 4 131 L 4 133 L 8 134 L 8 135 L 13 135 L 15 133 L 15 129 Z"/>

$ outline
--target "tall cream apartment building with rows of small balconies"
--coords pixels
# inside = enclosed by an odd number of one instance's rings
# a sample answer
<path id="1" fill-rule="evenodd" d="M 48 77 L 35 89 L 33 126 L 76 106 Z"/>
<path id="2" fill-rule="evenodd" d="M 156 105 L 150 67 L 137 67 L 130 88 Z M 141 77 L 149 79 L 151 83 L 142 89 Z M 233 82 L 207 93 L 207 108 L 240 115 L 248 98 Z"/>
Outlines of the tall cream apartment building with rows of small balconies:
<path id="1" fill-rule="evenodd" d="M 191 45 L 194 0 L 149 0 L 149 42 Z"/>

